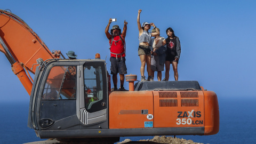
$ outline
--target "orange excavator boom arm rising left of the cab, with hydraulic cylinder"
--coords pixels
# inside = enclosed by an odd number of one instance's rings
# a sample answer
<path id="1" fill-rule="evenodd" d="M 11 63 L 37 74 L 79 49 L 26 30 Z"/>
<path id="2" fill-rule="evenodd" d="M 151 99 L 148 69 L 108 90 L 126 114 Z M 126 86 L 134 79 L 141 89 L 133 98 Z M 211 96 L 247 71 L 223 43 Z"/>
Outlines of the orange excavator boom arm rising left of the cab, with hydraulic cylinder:
<path id="1" fill-rule="evenodd" d="M 17 75 L 30 94 L 32 82 L 25 69 L 35 74 L 33 64 L 38 58 L 43 60 L 60 58 L 60 51 L 53 53 L 42 39 L 17 15 L 0 9 L 0 51 L 12 65 Z M 25 69 L 24 69 L 24 68 Z"/>

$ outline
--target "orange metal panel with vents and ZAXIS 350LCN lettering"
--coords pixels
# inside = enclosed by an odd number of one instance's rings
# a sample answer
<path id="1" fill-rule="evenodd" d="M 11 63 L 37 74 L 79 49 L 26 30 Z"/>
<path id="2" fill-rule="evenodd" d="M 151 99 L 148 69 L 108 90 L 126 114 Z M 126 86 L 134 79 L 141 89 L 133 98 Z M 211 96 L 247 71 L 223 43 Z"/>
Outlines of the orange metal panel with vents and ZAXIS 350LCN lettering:
<path id="1" fill-rule="evenodd" d="M 202 91 L 153 91 L 155 127 L 204 126 Z"/>

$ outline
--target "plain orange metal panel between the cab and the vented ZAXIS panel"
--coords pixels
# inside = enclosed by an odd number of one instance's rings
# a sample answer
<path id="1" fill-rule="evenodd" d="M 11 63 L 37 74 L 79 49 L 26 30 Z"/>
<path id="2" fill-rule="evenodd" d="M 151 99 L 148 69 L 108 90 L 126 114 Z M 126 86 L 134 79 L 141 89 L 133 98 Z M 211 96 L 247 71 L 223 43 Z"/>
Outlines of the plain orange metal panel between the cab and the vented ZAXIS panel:
<path id="1" fill-rule="evenodd" d="M 154 118 L 148 119 L 148 114 L 154 116 L 152 91 L 111 92 L 109 94 L 109 128 L 144 128 L 145 122 L 154 126 Z"/>

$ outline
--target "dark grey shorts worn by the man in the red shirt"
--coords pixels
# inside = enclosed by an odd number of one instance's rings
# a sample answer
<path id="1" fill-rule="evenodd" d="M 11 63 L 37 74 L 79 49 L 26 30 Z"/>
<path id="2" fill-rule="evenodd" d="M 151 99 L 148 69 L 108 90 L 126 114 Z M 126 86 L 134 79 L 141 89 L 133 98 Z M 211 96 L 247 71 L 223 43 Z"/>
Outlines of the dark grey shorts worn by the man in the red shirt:
<path id="1" fill-rule="evenodd" d="M 127 74 L 125 57 L 122 57 L 122 59 L 121 58 L 116 59 L 116 57 L 110 57 L 110 62 L 111 62 L 111 66 L 110 66 L 111 75 L 116 75 L 117 73 L 121 75 Z"/>

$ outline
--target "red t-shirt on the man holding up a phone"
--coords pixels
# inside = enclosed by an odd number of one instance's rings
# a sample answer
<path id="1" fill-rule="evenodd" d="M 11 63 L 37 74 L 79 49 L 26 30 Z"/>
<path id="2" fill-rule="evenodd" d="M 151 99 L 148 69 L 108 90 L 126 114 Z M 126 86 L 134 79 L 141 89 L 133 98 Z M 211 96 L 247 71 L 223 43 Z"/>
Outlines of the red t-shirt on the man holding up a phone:
<path id="1" fill-rule="evenodd" d="M 111 43 L 111 39 L 112 38 L 109 39 L 109 44 Z M 119 39 L 120 39 L 119 36 L 114 36 L 114 40 L 117 42 L 115 42 L 115 41 L 112 42 L 112 45 L 110 45 L 111 46 L 110 52 L 117 53 L 118 54 L 117 57 L 121 58 L 120 54 L 124 52 L 124 44 L 123 44 L 122 40 L 121 39 L 119 40 Z M 123 38 L 123 40 L 124 40 L 124 38 Z M 116 58 L 116 54 L 113 54 L 113 53 L 110 53 L 110 57 Z M 125 53 L 122 54 L 122 57 L 125 57 Z"/>

